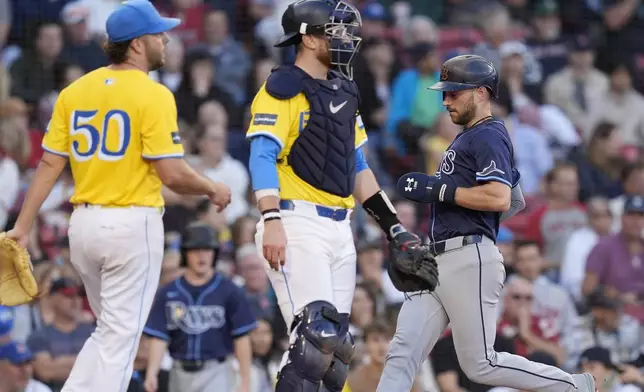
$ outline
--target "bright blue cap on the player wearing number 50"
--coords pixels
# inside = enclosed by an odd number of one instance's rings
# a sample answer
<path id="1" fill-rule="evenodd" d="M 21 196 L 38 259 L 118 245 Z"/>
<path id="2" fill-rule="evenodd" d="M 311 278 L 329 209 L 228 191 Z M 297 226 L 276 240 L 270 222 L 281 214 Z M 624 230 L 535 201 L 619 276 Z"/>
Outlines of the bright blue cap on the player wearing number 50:
<path id="1" fill-rule="evenodd" d="M 162 17 L 148 0 L 126 0 L 107 18 L 105 30 L 110 42 L 123 42 L 165 33 L 180 23 L 180 19 Z"/>

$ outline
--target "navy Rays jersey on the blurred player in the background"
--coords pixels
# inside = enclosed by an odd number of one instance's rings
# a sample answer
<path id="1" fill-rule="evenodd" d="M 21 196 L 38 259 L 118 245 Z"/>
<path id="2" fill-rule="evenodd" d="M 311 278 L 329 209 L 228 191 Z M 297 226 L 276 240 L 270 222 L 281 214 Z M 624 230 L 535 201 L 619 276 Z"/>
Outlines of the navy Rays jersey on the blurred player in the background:
<path id="1" fill-rule="evenodd" d="M 256 325 L 243 289 L 215 274 L 203 286 L 181 277 L 162 287 L 143 333 L 167 341 L 174 359 L 222 360 Z"/>

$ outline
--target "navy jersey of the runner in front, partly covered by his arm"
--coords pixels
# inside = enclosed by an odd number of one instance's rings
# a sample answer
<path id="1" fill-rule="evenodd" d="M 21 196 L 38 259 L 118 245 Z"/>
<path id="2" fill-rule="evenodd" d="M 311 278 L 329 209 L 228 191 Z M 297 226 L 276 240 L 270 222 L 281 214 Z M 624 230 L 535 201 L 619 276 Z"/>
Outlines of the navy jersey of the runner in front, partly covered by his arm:
<path id="1" fill-rule="evenodd" d="M 445 151 L 436 172 L 458 187 L 472 188 L 490 181 L 511 187 L 518 181 L 514 149 L 505 124 L 489 119 L 463 130 Z M 429 240 L 444 241 L 471 234 L 496 240 L 501 213 L 474 211 L 448 203 L 432 203 Z"/>

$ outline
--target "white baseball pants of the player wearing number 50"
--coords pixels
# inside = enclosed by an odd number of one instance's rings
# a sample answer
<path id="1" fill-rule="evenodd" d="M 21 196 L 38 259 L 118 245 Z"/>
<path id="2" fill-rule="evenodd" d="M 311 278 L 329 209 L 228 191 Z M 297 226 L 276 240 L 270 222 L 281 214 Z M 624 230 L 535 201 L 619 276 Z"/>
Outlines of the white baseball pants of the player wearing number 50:
<path id="1" fill-rule="evenodd" d="M 159 285 L 163 221 L 158 208 L 79 206 L 71 217 L 71 262 L 97 327 L 62 392 L 125 392 Z"/>

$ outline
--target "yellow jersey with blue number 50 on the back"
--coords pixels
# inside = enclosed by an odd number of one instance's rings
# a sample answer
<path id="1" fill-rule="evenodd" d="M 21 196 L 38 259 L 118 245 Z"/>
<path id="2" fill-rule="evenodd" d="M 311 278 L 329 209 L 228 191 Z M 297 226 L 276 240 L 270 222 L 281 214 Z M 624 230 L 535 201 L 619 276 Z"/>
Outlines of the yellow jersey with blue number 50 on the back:
<path id="1" fill-rule="evenodd" d="M 69 157 L 73 204 L 164 205 L 151 161 L 183 157 L 172 93 L 137 70 L 99 68 L 58 97 L 43 149 Z"/>

